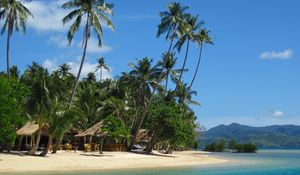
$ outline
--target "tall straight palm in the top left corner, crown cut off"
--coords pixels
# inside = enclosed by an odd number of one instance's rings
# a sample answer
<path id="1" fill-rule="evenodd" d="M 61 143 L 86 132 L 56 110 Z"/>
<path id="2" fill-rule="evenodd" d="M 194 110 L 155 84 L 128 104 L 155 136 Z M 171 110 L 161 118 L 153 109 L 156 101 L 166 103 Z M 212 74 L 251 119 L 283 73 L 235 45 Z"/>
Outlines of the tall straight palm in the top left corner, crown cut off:
<path id="1" fill-rule="evenodd" d="M 7 30 L 6 40 L 6 62 L 7 62 L 7 77 L 10 78 L 10 65 L 9 65 L 9 49 L 10 38 L 13 31 L 23 32 L 26 31 L 26 21 L 28 17 L 33 17 L 31 12 L 18 0 L 2 0 L 0 11 L 0 20 L 4 19 L 4 25 L 1 30 L 1 34 Z"/>

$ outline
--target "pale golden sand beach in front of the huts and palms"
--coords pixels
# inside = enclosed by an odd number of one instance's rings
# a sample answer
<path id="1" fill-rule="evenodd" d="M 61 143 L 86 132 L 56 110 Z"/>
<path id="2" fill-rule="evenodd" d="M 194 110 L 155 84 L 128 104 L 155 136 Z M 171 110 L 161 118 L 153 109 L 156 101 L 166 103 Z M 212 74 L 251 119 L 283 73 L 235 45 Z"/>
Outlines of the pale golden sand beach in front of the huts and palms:
<path id="1" fill-rule="evenodd" d="M 168 168 L 225 163 L 199 151 L 173 152 L 171 155 L 155 153 L 144 155 L 129 152 L 99 153 L 65 152 L 46 157 L 19 156 L 0 153 L 0 173 L 107 171 L 120 169 Z"/>

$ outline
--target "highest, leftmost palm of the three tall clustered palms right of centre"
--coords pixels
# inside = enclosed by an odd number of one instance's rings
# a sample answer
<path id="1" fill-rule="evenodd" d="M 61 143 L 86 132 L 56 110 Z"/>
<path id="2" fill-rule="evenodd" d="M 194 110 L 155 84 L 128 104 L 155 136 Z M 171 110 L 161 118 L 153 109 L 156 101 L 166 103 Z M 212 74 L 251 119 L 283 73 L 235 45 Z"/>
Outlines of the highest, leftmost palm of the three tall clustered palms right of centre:
<path id="1" fill-rule="evenodd" d="M 181 6 L 178 2 L 171 2 L 168 5 L 168 10 L 160 12 L 160 24 L 158 25 L 157 37 L 166 33 L 166 39 L 171 39 L 168 52 L 171 51 L 174 38 L 178 27 L 184 20 L 185 11 L 188 9 L 186 6 Z"/>

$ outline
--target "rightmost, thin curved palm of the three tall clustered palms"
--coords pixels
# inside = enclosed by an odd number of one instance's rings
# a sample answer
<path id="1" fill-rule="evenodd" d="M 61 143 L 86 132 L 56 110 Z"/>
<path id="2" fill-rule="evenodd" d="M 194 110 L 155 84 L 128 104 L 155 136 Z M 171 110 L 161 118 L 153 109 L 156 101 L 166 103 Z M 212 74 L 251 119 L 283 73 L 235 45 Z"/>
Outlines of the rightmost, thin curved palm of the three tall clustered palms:
<path id="1" fill-rule="evenodd" d="M 202 48 L 204 44 L 213 44 L 212 42 L 212 37 L 209 36 L 209 31 L 205 29 L 200 29 L 199 32 L 195 35 L 196 42 L 198 43 L 200 49 L 199 49 L 199 57 L 198 57 L 198 62 L 197 62 L 197 67 L 193 76 L 193 79 L 191 81 L 191 84 L 189 88 L 192 88 L 194 81 L 196 79 L 196 75 L 198 73 L 198 69 L 200 66 L 200 61 L 201 61 L 201 56 L 202 56 Z"/>

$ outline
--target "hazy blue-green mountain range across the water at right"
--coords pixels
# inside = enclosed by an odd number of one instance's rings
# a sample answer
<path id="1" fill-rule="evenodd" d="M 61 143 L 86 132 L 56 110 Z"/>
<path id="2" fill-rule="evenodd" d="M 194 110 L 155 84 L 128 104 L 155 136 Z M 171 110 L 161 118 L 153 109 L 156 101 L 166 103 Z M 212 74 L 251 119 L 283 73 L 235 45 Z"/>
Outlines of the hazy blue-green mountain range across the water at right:
<path id="1" fill-rule="evenodd" d="M 239 143 L 253 143 L 259 148 L 300 148 L 300 126 L 272 125 L 251 127 L 232 123 L 219 125 L 198 135 L 201 147 L 224 139 L 235 139 Z"/>

